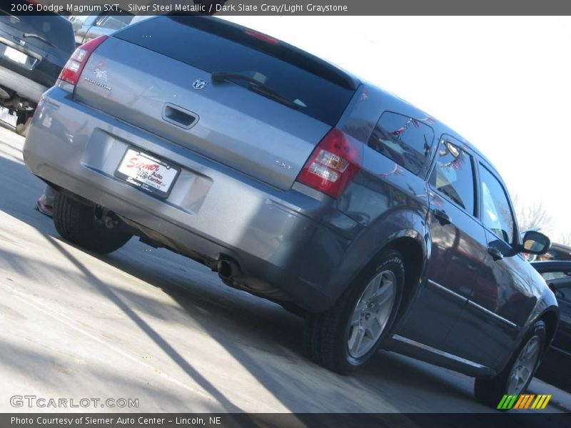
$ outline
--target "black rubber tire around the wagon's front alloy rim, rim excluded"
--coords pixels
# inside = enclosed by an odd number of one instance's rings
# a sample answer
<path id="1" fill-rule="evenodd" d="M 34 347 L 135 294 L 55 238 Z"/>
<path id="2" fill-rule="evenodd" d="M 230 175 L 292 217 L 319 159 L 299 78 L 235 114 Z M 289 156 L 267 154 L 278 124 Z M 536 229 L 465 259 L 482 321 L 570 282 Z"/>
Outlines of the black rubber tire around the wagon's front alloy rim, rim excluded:
<path id="1" fill-rule="evenodd" d="M 537 367 L 539 367 L 541 363 L 542 356 L 545 351 L 545 337 L 546 337 L 546 329 L 545 329 L 545 322 L 543 321 L 536 321 L 533 325 L 532 329 L 529 333 L 525 336 L 524 340 L 522 340 L 522 344 L 517 350 L 513 353 L 512 357 L 510 358 L 510 362 L 507 363 L 505 369 L 502 372 L 498 373 L 495 377 L 491 379 L 475 379 L 474 382 L 474 395 L 479 402 L 486 404 L 493 409 L 497 409 L 498 404 L 500 404 L 500 400 L 505 394 L 524 394 L 527 391 L 527 387 L 530 386 L 530 382 L 537 372 Z M 539 357 L 537 358 L 537 362 L 535 367 L 532 370 L 532 374 L 527 379 L 527 382 L 523 385 L 520 391 L 508 391 L 508 381 L 510 379 L 510 373 L 512 369 L 520 357 L 522 350 L 526 347 L 526 345 L 531 340 L 537 340 L 540 342 L 540 350 L 539 350 Z M 509 409 L 502 409 L 502 410 L 509 410 Z"/>

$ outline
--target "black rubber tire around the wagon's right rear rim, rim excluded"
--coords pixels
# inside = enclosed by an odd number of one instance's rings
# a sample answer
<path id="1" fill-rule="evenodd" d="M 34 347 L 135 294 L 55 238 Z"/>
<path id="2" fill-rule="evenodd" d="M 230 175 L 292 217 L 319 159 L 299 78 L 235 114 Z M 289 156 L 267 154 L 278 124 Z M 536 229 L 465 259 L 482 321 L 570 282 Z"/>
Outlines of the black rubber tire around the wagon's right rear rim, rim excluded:
<path id="1" fill-rule="evenodd" d="M 350 374 L 370 360 L 389 334 L 403 297 L 405 267 L 400 253 L 393 250 L 383 252 L 377 260 L 377 263 L 359 275 L 358 280 L 348 287 L 330 310 L 308 315 L 305 322 L 305 347 L 311 360 L 318 365 L 340 374 Z M 350 317 L 370 281 L 385 271 L 393 272 L 395 277 L 393 307 L 375 344 L 364 355 L 354 357 L 350 355 L 348 344 L 351 333 Z"/>

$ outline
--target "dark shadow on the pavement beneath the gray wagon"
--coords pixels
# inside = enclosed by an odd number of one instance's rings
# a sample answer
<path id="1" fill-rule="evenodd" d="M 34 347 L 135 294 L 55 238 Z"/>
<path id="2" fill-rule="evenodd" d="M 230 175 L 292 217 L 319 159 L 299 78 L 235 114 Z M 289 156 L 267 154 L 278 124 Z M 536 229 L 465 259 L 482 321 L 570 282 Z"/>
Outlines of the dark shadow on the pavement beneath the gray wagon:
<path id="1" fill-rule="evenodd" d="M 166 250 L 155 252 L 162 253 L 156 257 L 178 259 L 173 262 L 179 263 L 178 266 L 195 263 L 182 256 L 166 253 Z M 408 389 L 411 397 L 417 396 L 416 401 L 428 401 L 428 397 L 433 399 L 438 395 L 442 403 L 440 410 L 450 409 L 450 399 L 465 402 L 467 408 L 475 405 L 471 380 L 468 382 L 469 387 L 465 386 L 466 382 L 459 386 L 458 377 L 463 377 L 461 374 L 415 362 L 391 352 L 380 352 L 371 364 L 363 367 L 353 377 L 325 370 L 310 362 L 304 352 L 303 319 L 300 317 L 271 302 L 226 287 L 216 274 L 208 272 L 206 268 L 201 281 L 196 281 L 180 270 L 176 272 L 165 268 L 157 272 L 152 267 L 154 263 L 136 260 L 131 254 L 119 252 L 101 260 L 148 284 L 160 287 L 176 300 L 194 322 L 198 322 L 203 330 L 272 392 L 284 407 L 292 411 L 331 412 L 335 409 L 336 412 L 374 412 L 377 399 L 383 402 L 380 408 L 385 411 L 400 409 L 410 399 L 403 397 L 400 391 L 403 386 Z M 216 323 L 212 322 L 212 317 L 216 317 Z M 270 353 L 274 358 L 269 361 L 261 358 L 261 352 Z M 466 379 L 468 378 L 465 377 L 464 381 Z M 311 397 L 311 401 L 300 402 L 300 392 L 303 392 L 304 397 Z M 358 392 L 372 392 L 370 402 L 360 401 Z M 332 405 L 336 401 L 338 404 Z M 426 411 L 427 407 L 430 408 L 430 404 L 423 404 L 425 407 L 418 405 L 419 410 Z M 486 408 L 482 407 L 482 411 L 486 411 Z"/>

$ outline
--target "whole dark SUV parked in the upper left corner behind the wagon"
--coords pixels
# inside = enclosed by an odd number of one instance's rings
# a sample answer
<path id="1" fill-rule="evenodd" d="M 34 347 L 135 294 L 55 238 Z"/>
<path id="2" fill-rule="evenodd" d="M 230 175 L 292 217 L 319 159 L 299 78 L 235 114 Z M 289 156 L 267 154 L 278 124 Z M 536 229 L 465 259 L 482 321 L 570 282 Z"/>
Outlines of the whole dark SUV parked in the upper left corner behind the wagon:
<path id="1" fill-rule="evenodd" d="M 0 106 L 17 116 L 16 132 L 27 133 L 41 94 L 54 86 L 74 49 L 74 30 L 63 16 L 14 15 L 1 6 Z"/>

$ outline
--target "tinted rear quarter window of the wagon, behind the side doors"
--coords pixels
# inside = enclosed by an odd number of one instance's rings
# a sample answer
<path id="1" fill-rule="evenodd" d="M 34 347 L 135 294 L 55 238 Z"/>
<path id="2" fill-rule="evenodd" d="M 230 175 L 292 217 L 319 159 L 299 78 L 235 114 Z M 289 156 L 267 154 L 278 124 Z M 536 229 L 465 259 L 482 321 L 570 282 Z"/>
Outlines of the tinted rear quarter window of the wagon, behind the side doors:
<path id="1" fill-rule="evenodd" d="M 369 146 L 418 174 L 428 162 L 433 128 L 408 116 L 385 111 L 369 138 Z"/>

